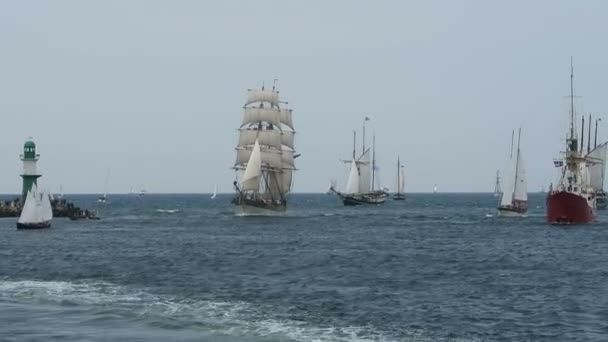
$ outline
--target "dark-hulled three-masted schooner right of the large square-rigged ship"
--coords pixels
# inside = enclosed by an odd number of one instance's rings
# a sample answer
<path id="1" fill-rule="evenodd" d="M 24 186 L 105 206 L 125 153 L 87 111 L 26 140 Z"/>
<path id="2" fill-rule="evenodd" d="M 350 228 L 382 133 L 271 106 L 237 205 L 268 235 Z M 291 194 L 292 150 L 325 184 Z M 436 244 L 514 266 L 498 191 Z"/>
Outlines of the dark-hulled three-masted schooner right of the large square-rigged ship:
<path id="1" fill-rule="evenodd" d="M 366 117 L 366 121 L 369 120 Z M 345 206 L 356 206 L 362 204 L 382 204 L 386 201 L 388 194 L 383 189 L 375 189 L 376 180 L 376 138 L 374 136 L 372 147 L 365 146 L 365 125 L 363 126 L 363 151 L 357 157 L 357 135 L 353 132 L 353 155 L 351 160 L 345 162 L 350 164 L 350 171 L 344 191 L 332 191 L 340 197 Z M 371 155 L 371 156 L 370 156 Z"/>

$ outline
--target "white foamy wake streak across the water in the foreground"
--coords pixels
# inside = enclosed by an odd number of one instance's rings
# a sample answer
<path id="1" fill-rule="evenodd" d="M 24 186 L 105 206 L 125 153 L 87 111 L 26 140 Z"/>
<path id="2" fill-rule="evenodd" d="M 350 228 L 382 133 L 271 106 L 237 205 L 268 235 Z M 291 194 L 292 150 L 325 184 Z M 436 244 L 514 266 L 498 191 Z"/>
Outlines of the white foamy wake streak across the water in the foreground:
<path id="1" fill-rule="evenodd" d="M 198 326 L 202 334 L 215 333 L 235 337 L 267 337 L 292 341 L 424 341 L 392 338 L 373 327 L 315 327 L 307 322 L 270 318 L 271 312 L 245 302 L 178 299 L 154 295 L 101 281 L 0 281 L 0 303 L 55 304 L 108 307 L 118 315 L 129 315 L 144 323 L 171 320 L 184 326 Z"/>

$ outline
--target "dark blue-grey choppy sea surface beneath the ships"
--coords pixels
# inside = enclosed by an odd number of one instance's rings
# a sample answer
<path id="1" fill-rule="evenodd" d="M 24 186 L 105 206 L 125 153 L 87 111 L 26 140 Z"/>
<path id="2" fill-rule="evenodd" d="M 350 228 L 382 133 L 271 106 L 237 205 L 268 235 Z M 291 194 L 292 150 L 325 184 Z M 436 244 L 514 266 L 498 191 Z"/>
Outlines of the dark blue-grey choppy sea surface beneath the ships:
<path id="1" fill-rule="evenodd" d="M 102 220 L 43 231 L 0 219 L 0 340 L 608 340 L 606 212 L 564 228 L 540 194 L 519 219 L 491 194 L 292 195 L 282 218 L 229 201 L 115 195 Z"/>

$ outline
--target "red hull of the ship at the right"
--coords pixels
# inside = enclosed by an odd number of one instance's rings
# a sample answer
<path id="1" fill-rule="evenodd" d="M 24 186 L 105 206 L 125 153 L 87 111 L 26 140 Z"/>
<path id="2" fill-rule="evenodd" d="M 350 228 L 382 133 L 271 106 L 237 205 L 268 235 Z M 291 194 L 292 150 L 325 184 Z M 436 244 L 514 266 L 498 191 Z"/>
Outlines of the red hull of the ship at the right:
<path id="1" fill-rule="evenodd" d="M 551 224 L 581 224 L 595 219 L 595 209 L 577 194 L 555 191 L 547 196 L 547 221 Z"/>

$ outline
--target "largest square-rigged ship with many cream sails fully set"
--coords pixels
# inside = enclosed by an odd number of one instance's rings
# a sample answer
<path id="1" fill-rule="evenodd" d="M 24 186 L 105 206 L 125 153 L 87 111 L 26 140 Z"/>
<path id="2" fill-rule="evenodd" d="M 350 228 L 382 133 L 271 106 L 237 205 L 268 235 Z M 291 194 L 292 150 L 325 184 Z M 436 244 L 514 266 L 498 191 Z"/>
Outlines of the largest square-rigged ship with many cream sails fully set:
<path id="1" fill-rule="evenodd" d="M 239 215 L 276 215 L 287 209 L 295 158 L 292 110 L 279 92 L 250 89 L 236 146 L 235 196 Z"/>

